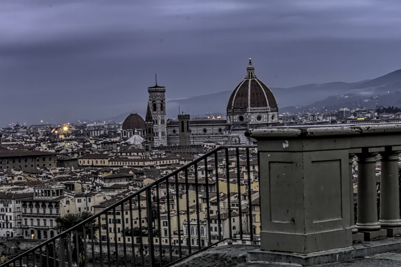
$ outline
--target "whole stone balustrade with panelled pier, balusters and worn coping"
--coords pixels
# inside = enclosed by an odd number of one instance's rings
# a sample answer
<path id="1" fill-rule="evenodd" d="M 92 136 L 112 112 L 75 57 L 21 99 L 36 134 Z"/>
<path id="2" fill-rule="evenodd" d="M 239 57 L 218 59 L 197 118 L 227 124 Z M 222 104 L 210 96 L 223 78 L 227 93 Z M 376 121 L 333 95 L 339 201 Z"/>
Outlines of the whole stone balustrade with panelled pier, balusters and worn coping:
<path id="1" fill-rule="evenodd" d="M 401 124 L 270 127 L 246 135 L 257 140 L 260 153 L 262 250 L 312 253 L 400 235 Z"/>

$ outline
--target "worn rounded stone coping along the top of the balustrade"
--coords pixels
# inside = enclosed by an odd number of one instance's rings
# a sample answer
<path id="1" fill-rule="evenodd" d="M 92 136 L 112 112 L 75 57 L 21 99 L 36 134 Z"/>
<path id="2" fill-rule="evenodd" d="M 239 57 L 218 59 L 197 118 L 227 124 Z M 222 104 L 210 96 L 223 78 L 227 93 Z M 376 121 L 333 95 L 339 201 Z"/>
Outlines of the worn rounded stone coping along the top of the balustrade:
<path id="1" fill-rule="evenodd" d="M 251 138 L 324 138 L 333 136 L 373 136 L 380 134 L 401 134 L 400 123 L 375 124 L 329 124 L 329 125 L 296 125 L 285 127 L 267 127 L 249 129 L 245 136 Z"/>

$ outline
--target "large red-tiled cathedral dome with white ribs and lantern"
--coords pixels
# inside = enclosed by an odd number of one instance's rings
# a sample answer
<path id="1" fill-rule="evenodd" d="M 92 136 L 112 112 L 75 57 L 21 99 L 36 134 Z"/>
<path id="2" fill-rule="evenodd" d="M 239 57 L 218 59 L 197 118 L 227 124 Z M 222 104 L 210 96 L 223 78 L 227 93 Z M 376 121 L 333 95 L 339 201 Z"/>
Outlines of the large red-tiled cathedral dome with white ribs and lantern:
<path id="1" fill-rule="evenodd" d="M 277 101 L 269 87 L 257 79 L 255 68 L 252 66 L 251 58 L 249 58 L 247 75 L 245 75 L 245 79 L 231 93 L 227 104 L 227 111 L 258 107 L 268 107 L 271 110 L 277 110 Z"/>

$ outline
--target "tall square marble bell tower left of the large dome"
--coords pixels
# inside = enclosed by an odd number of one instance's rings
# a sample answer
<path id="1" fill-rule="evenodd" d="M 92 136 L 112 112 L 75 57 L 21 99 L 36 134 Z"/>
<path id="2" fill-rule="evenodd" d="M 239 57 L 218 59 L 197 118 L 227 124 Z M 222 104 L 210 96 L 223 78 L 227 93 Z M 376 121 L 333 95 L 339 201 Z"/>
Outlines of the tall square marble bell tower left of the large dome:
<path id="1" fill-rule="evenodd" d="M 167 146 L 166 127 L 166 87 L 156 85 L 148 87 L 150 115 L 153 120 L 154 146 Z"/>

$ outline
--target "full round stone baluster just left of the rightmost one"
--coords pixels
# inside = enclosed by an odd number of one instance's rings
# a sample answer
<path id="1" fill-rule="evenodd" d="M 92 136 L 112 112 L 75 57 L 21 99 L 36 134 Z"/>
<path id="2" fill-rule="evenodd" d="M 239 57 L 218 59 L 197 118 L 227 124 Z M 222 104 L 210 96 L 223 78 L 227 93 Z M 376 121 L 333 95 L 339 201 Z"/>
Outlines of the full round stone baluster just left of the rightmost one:
<path id="1" fill-rule="evenodd" d="M 365 241 L 385 238 L 377 220 L 376 155 L 363 149 L 358 159 L 358 218 L 356 228 L 365 234 Z"/>

